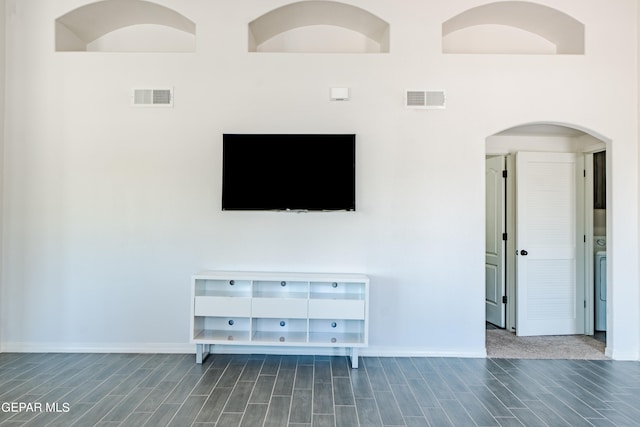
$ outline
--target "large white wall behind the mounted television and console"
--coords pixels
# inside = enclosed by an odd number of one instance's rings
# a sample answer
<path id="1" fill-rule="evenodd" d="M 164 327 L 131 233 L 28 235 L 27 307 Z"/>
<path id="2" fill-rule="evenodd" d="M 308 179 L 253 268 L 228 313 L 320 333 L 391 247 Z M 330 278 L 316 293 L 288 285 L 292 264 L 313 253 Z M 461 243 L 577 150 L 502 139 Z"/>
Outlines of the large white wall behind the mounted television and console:
<path id="1" fill-rule="evenodd" d="M 5 351 L 191 349 L 189 276 L 213 268 L 366 273 L 364 354 L 484 355 L 485 139 L 553 121 L 612 141 L 609 350 L 638 358 L 634 1 L 563 2 L 584 56 L 441 54 L 476 0 L 349 1 L 391 24 L 389 54 L 247 53 L 281 0 L 162 2 L 196 21 L 196 53 L 56 53 L 55 18 L 84 2 L 8 3 Z M 173 109 L 130 106 L 155 86 Z M 404 109 L 405 88 L 447 109 Z M 223 132 L 357 133 L 358 211 L 222 212 Z"/>

